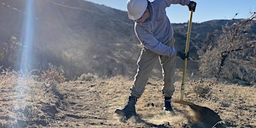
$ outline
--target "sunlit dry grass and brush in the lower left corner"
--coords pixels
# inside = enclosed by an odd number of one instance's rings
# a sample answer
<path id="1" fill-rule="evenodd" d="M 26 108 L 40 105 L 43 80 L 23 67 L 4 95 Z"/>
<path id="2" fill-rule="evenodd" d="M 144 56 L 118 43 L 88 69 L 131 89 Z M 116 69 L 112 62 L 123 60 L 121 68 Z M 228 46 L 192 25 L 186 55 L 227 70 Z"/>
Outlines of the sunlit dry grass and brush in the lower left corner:
<path id="1" fill-rule="evenodd" d="M 0 127 L 46 126 L 54 118 L 61 95 L 54 81 L 38 82 L 29 72 L 0 74 Z"/>

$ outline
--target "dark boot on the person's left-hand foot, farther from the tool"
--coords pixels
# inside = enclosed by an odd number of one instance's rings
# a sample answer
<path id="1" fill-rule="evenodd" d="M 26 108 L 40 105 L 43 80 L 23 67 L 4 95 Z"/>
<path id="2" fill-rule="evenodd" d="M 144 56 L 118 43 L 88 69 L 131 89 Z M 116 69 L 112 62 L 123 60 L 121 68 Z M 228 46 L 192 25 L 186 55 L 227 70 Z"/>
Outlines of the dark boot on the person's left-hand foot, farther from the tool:
<path id="1" fill-rule="evenodd" d="M 131 118 L 131 116 L 136 115 L 135 104 L 137 102 L 137 98 L 134 96 L 129 97 L 129 101 L 123 109 L 116 109 L 115 113 L 118 115 L 125 116 L 127 119 Z"/>

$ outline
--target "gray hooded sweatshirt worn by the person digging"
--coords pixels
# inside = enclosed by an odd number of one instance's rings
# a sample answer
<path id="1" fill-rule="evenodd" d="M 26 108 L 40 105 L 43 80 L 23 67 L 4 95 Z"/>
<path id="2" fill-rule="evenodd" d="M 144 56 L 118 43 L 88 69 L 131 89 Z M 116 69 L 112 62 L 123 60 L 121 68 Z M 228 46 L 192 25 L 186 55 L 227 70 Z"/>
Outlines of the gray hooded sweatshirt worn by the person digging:
<path id="1" fill-rule="evenodd" d="M 150 18 L 143 23 L 135 22 L 134 30 L 141 44 L 162 56 L 174 56 L 177 50 L 166 44 L 173 38 L 173 29 L 165 8 L 171 4 L 188 5 L 189 0 L 154 0 L 148 2 Z"/>

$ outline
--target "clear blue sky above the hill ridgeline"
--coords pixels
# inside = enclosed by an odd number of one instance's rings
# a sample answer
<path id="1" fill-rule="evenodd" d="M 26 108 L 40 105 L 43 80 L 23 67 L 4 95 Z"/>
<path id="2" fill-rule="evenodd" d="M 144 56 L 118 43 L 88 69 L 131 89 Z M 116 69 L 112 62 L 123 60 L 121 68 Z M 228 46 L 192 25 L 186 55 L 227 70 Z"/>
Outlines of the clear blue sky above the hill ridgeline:
<path id="1" fill-rule="evenodd" d="M 127 11 L 127 0 L 86 0 L 97 4 L 104 4 L 111 8 Z M 193 22 L 204 22 L 214 19 L 244 19 L 256 12 L 256 0 L 195 0 L 196 11 L 193 13 Z M 189 20 L 190 12 L 187 6 L 172 4 L 166 8 L 166 13 L 173 23 L 182 23 Z"/>

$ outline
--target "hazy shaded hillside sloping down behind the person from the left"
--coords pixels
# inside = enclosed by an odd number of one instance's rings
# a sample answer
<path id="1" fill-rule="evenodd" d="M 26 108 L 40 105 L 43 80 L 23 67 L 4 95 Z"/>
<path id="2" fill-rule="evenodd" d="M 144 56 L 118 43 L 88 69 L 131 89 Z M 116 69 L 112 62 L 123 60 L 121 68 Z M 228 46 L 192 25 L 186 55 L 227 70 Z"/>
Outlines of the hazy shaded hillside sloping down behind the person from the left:
<path id="1" fill-rule="evenodd" d="M 22 44 L 26 1 L 0 2 L 0 44 L 9 43 L 12 36 Z M 83 0 L 38 0 L 33 4 L 31 67 L 45 70 L 51 63 L 70 79 L 87 72 L 107 77 L 134 75 L 141 46 L 127 12 Z M 184 49 L 186 35 L 175 33 L 175 38 L 175 47 Z"/>

